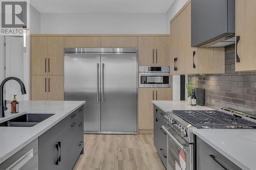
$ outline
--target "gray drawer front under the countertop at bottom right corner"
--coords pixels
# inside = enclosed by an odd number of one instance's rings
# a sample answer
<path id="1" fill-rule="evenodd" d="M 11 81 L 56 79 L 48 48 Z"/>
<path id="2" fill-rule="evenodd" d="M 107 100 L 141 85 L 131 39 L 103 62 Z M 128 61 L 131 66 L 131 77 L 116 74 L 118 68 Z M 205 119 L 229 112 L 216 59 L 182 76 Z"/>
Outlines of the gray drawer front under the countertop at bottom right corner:
<path id="1" fill-rule="evenodd" d="M 197 170 L 242 170 L 209 144 L 197 137 Z"/>

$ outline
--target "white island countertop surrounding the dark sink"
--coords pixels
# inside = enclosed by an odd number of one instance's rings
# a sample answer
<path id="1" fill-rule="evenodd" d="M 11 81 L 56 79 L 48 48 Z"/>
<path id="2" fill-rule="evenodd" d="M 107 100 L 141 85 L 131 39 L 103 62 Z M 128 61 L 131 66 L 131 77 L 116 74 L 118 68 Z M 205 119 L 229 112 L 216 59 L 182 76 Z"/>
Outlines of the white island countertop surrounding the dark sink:
<path id="1" fill-rule="evenodd" d="M 0 123 L 26 113 L 53 113 L 54 115 L 33 127 L 0 127 L 0 163 L 24 148 L 60 120 L 85 104 L 85 101 L 23 101 L 19 113 L 5 113 Z"/>

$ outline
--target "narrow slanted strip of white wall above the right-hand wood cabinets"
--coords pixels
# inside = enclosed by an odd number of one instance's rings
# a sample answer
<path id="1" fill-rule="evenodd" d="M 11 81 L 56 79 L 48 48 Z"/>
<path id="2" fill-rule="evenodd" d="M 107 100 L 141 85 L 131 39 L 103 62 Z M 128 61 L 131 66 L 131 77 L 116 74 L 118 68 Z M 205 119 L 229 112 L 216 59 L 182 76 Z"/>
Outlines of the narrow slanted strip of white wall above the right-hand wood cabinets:
<path id="1" fill-rule="evenodd" d="M 177 14 L 177 12 L 183 7 L 188 0 L 175 0 L 169 10 L 166 12 L 166 30 L 167 33 L 170 33 L 170 20 Z"/>

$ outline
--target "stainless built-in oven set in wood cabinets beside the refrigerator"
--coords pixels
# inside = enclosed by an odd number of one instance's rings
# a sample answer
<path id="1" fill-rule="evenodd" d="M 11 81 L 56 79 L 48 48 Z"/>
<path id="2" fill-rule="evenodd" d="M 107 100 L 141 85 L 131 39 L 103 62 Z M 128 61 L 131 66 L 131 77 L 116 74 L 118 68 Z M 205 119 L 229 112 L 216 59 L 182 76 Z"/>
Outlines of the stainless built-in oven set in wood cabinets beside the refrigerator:
<path id="1" fill-rule="evenodd" d="M 169 66 L 139 66 L 139 87 L 171 87 Z"/>

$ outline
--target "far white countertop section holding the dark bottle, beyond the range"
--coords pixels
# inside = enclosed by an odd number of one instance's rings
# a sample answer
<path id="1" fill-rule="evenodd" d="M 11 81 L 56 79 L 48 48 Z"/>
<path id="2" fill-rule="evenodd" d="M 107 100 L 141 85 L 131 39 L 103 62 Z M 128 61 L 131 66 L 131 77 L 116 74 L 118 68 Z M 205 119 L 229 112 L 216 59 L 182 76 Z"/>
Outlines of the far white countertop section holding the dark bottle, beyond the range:
<path id="1" fill-rule="evenodd" d="M 152 101 L 152 103 L 164 112 L 173 110 L 214 110 L 205 106 L 191 106 L 186 101 Z"/>

